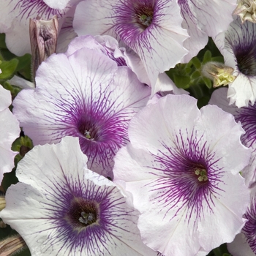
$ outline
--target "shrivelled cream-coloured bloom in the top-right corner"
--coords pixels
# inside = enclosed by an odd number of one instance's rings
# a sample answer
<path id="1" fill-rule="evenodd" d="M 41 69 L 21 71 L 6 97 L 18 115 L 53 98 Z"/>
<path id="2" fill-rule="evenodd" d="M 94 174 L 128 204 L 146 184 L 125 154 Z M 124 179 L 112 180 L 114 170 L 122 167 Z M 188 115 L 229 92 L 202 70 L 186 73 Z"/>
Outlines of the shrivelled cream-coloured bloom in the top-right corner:
<path id="1" fill-rule="evenodd" d="M 246 20 L 256 23 L 256 1 L 238 0 L 238 5 L 236 10 L 233 11 L 233 15 L 240 16 L 242 23 Z"/>

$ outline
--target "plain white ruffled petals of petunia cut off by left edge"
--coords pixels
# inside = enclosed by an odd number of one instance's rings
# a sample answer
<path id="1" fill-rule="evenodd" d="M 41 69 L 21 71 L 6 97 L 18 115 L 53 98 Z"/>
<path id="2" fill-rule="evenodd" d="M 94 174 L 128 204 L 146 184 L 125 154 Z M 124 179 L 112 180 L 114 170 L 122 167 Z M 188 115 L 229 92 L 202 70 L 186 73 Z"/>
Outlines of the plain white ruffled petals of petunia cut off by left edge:
<path id="1" fill-rule="evenodd" d="M 0 85 L 0 184 L 4 173 L 9 173 L 14 167 L 14 157 L 18 154 L 11 150 L 13 141 L 20 135 L 18 120 L 8 108 L 11 104 L 10 91 Z"/>

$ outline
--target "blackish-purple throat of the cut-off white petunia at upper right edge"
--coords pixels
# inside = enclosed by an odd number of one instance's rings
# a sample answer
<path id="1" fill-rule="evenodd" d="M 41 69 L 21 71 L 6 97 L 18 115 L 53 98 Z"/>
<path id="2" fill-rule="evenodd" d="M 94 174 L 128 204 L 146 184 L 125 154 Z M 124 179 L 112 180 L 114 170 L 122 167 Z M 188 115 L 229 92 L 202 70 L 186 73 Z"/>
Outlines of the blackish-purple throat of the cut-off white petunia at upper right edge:
<path id="1" fill-rule="evenodd" d="M 235 50 L 238 69 L 244 75 L 256 75 L 256 45 L 255 42 L 251 45 L 246 45 L 244 48 Z"/>

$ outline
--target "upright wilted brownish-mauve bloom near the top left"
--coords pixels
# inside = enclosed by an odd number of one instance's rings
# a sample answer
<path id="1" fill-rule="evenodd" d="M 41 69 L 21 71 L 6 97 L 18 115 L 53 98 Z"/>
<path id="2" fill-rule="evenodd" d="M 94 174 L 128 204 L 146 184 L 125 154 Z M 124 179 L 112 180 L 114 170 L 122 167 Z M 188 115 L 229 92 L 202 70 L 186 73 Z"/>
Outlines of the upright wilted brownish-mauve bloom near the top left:
<path id="1" fill-rule="evenodd" d="M 32 72 L 35 77 L 39 64 L 56 52 L 59 23 L 57 15 L 50 20 L 30 19 L 29 34 L 32 55 Z"/>

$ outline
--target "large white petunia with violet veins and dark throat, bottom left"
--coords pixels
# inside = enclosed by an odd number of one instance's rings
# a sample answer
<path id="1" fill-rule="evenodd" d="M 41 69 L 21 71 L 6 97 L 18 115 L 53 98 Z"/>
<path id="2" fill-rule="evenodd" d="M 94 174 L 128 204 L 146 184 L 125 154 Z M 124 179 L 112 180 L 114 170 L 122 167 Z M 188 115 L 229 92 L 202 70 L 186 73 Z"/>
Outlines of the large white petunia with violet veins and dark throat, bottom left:
<path id="1" fill-rule="evenodd" d="M 18 164 L 20 183 L 7 190 L 1 218 L 31 255 L 157 255 L 122 192 L 86 162 L 78 138 L 34 147 Z"/>

